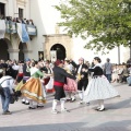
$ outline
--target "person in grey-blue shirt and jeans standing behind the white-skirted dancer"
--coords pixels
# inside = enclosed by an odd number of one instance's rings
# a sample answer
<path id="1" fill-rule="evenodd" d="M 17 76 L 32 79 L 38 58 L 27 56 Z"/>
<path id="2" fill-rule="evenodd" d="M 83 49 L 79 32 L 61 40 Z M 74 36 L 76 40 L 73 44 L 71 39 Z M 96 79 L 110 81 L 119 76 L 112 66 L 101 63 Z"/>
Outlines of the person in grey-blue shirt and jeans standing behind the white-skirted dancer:
<path id="1" fill-rule="evenodd" d="M 112 64 L 109 58 L 107 58 L 107 62 L 104 64 L 104 73 L 107 80 L 111 82 Z"/>

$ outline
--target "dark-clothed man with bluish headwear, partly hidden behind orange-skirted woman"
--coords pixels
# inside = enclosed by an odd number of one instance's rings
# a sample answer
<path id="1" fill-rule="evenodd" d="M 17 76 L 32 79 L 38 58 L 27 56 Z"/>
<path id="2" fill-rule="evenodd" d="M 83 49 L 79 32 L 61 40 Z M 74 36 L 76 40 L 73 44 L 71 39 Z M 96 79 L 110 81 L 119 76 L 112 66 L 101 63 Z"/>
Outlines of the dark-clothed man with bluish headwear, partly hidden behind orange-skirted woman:
<path id="1" fill-rule="evenodd" d="M 27 71 L 27 68 L 29 68 L 29 64 L 31 64 L 31 59 L 25 59 L 25 63 L 23 66 L 23 84 L 26 83 L 26 81 L 31 78 L 31 73 L 29 71 Z M 22 104 L 25 104 L 25 105 L 29 105 L 29 102 L 23 97 L 22 99 Z"/>

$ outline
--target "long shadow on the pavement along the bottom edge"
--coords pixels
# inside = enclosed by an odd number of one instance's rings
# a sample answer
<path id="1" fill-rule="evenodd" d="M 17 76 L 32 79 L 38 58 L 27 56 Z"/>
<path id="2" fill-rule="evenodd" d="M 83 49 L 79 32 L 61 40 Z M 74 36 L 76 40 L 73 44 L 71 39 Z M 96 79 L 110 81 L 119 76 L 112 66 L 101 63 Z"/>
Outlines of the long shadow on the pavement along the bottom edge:
<path id="1" fill-rule="evenodd" d="M 131 120 L 110 121 L 97 127 L 87 127 L 86 122 L 4 127 L 0 131 L 131 131 Z"/>

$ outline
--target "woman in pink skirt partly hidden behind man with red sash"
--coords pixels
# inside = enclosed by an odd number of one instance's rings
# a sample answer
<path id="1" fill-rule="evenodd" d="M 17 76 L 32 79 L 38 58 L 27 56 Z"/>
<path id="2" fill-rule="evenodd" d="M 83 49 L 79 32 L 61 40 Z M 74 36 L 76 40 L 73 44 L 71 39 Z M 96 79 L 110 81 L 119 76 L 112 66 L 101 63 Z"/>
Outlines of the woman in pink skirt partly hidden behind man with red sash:
<path id="1" fill-rule="evenodd" d="M 69 60 L 64 61 L 64 70 L 71 74 L 72 72 L 72 64 L 70 64 Z M 74 94 L 78 92 L 78 83 L 76 81 L 67 78 L 67 84 L 63 86 L 64 91 L 68 93 L 68 99 L 69 102 L 74 102 L 75 97 Z"/>

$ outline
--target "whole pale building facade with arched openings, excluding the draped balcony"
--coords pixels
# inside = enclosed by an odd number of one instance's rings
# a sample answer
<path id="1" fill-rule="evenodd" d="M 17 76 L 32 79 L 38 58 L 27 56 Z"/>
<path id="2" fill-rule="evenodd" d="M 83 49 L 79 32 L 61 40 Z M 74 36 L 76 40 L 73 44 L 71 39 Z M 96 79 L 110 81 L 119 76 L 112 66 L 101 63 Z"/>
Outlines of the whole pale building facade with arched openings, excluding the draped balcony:
<path id="1" fill-rule="evenodd" d="M 117 48 L 106 56 L 94 55 L 92 50 L 83 49 L 86 41 L 72 39 L 63 33 L 57 26 L 60 14 L 52 7 L 58 3 L 59 0 L 0 0 L 0 16 L 33 20 L 37 28 L 37 36 L 29 36 L 28 43 L 22 43 L 17 34 L 5 33 L 4 38 L 0 39 L 0 59 L 51 59 L 50 51 L 56 51 L 57 59 L 78 60 L 83 57 L 92 61 L 94 56 L 99 56 L 105 60 L 108 57 L 114 63 L 118 63 Z M 121 47 L 120 51 L 120 62 L 126 62 L 130 50 Z"/>

